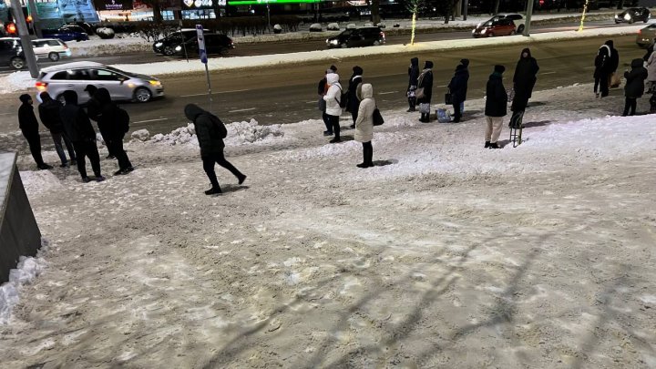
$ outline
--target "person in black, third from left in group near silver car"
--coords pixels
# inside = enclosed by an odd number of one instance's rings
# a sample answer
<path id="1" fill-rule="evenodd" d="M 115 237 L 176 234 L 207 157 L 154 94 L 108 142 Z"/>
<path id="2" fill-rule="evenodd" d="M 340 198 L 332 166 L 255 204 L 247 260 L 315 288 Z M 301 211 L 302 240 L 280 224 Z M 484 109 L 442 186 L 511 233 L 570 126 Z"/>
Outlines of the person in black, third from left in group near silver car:
<path id="1" fill-rule="evenodd" d="M 68 135 L 73 148 L 77 154 L 77 171 L 82 176 L 83 182 L 89 182 L 91 179 L 87 176 L 87 160 L 91 161 L 96 180 L 105 180 L 100 172 L 100 155 L 96 146 L 96 130 L 94 130 L 87 112 L 77 105 L 77 92 L 72 90 L 64 91 L 64 101 L 66 104 L 59 110 L 59 117 L 64 124 L 64 132 Z"/>

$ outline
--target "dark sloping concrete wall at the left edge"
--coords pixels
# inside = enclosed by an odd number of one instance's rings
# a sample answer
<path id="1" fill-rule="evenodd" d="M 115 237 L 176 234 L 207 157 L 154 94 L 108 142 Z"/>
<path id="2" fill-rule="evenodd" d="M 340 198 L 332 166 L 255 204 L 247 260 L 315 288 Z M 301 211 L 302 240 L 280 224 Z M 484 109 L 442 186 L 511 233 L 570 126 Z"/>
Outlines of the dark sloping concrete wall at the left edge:
<path id="1" fill-rule="evenodd" d="M 8 170 L 0 170 L 5 181 L 4 200 L 0 203 L 0 283 L 9 280 L 9 271 L 16 267 L 20 256 L 35 256 L 41 247 L 41 231 L 38 229 L 34 213 L 13 160 L 0 160 L 11 165 Z M 0 196 L 3 199 L 3 196 Z"/>

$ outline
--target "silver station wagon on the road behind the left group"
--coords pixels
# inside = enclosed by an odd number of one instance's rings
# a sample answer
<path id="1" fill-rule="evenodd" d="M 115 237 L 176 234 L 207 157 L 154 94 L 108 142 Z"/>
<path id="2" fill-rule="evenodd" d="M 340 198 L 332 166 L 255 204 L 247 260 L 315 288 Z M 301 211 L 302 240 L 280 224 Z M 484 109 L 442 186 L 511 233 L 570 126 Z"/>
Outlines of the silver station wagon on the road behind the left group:
<path id="1" fill-rule="evenodd" d="M 87 102 L 87 85 L 105 87 L 117 100 L 147 102 L 153 97 L 163 97 L 164 87 L 158 78 L 126 72 L 96 62 L 75 62 L 41 69 L 36 79 L 36 89 L 47 91 L 50 96 L 63 100 L 64 91 L 77 92 L 80 104 Z"/>

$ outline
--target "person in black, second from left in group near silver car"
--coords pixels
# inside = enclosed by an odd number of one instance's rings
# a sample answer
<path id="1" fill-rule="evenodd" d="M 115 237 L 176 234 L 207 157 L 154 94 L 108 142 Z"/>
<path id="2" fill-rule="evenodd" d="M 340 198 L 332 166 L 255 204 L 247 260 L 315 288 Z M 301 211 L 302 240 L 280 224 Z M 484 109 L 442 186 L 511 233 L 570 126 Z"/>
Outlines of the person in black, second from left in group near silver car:
<path id="1" fill-rule="evenodd" d="M 64 105 L 52 98 L 46 91 L 39 94 L 39 97 L 41 97 L 42 101 L 38 107 L 39 118 L 41 118 L 41 123 L 50 130 L 50 136 L 52 136 L 53 142 L 55 143 L 56 153 L 62 162 L 60 167 L 68 168 L 68 159 L 62 146 L 62 139 L 64 140 L 64 144 L 66 144 L 70 163 L 75 165 L 75 149 L 73 149 L 73 144 L 64 133 L 64 123 L 62 123 L 61 117 L 59 116 L 59 111 Z"/>

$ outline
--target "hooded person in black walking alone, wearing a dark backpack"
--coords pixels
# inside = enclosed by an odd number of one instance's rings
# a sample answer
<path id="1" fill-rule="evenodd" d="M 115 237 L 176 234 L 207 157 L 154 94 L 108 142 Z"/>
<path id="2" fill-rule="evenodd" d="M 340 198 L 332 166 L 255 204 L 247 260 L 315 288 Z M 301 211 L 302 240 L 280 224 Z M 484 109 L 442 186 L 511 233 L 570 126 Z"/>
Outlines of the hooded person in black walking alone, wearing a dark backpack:
<path id="1" fill-rule="evenodd" d="M 196 137 L 200 146 L 200 159 L 202 159 L 203 169 L 210 179 L 211 189 L 206 190 L 206 195 L 222 193 L 219 185 L 219 179 L 216 177 L 214 165 L 219 164 L 221 167 L 228 169 L 237 177 L 239 184 L 246 180 L 246 175 L 242 174 L 239 169 L 235 168 L 230 161 L 225 159 L 223 149 L 225 143 L 223 138 L 226 137 L 226 130 L 220 118 L 203 110 L 195 104 L 188 104 L 185 107 L 185 116 L 193 122 L 196 129 Z"/>

